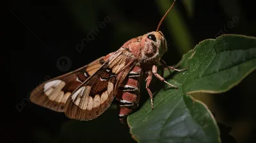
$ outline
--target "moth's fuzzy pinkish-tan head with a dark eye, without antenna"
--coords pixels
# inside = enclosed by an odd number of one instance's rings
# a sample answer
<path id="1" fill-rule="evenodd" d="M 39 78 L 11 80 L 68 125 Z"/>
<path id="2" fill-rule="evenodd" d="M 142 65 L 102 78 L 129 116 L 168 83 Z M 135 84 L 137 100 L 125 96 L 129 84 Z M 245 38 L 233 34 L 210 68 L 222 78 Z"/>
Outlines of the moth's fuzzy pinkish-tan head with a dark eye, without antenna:
<path id="1" fill-rule="evenodd" d="M 166 40 L 161 31 L 144 34 L 141 37 L 140 47 L 142 57 L 147 59 L 155 57 L 157 61 L 167 51 Z"/>

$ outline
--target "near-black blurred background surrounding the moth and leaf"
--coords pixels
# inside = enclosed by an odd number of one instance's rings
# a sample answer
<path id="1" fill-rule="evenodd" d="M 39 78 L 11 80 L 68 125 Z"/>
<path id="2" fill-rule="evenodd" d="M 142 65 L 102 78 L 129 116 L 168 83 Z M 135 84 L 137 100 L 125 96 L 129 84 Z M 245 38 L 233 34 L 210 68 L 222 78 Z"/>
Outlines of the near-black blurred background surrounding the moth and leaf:
<path id="1" fill-rule="evenodd" d="M 189 3 L 193 3 L 191 7 Z M 117 50 L 131 38 L 155 31 L 168 7 L 163 8 L 156 0 L 6 3 L 1 8 L 4 17 L 1 72 L 2 79 L 8 79 L 4 82 L 1 104 L 4 142 L 134 142 L 128 128 L 119 123 L 115 107 L 93 121 L 81 123 L 30 103 L 29 93 L 45 79 L 76 70 Z M 173 25 L 164 22 L 161 27 L 168 42 L 168 52 L 163 57 L 168 64 L 179 62 L 182 54 L 196 43 L 216 38 L 221 30 L 225 34 L 256 36 L 255 4 L 249 1 L 178 0 L 175 10 L 182 22 L 168 17 Z M 109 22 L 104 20 L 106 17 L 110 18 Z M 106 26 L 100 27 L 100 22 Z M 179 31 L 172 33 L 179 26 L 188 29 L 186 35 Z M 182 46 L 179 41 L 188 45 Z M 239 86 L 211 100 L 218 105 L 218 109 L 212 109 L 217 121 L 220 119 L 218 122 L 225 124 L 228 138 L 225 140 L 232 139 L 226 126 L 232 126 L 230 133 L 236 140 L 253 140 L 253 79 L 255 72 Z"/>

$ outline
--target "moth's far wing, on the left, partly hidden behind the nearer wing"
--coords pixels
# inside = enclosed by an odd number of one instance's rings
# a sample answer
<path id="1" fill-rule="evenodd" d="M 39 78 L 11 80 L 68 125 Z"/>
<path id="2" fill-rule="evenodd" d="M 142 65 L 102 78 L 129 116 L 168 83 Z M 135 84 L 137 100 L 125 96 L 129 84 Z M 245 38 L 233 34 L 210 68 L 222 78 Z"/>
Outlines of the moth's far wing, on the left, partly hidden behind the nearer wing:
<path id="1" fill-rule="evenodd" d="M 70 94 L 93 75 L 110 56 L 111 54 L 100 57 L 82 68 L 40 84 L 30 94 L 31 102 L 47 109 L 64 112 L 64 105 Z"/>

